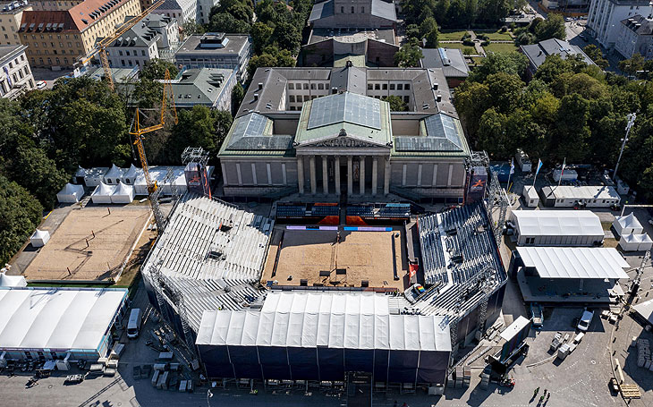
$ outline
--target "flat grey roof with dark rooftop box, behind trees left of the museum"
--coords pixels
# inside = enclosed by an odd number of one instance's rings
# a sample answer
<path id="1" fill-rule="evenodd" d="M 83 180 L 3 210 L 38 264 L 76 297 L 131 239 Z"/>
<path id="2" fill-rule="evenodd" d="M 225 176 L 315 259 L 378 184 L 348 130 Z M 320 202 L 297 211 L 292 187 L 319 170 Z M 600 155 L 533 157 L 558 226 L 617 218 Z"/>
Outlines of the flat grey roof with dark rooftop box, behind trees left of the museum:
<path id="1" fill-rule="evenodd" d="M 244 34 L 207 32 L 186 38 L 174 55 L 239 55 L 250 41 L 250 37 Z"/>

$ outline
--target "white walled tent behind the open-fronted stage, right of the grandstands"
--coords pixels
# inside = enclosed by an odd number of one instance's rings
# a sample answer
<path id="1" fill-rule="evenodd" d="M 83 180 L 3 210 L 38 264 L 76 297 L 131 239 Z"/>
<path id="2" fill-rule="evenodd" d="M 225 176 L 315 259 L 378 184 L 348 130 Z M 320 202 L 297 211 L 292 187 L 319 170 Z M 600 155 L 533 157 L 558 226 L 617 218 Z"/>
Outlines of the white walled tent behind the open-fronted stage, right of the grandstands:
<path id="1" fill-rule="evenodd" d="M 605 236 L 590 210 L 514 210 L 510 219 L 518 246 L 592 246 Z"/>

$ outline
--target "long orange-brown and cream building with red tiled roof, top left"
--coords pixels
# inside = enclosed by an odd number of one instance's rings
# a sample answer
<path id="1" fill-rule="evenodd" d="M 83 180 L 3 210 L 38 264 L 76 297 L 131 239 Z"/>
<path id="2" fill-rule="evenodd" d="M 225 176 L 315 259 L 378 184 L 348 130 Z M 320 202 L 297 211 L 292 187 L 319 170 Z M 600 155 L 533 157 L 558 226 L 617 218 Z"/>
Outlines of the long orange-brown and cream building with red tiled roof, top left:
<path id="1" fill-rule="evenodd" d="M 72 68 L 99 37 L 113 35 L 125 17 L 138 14 L 139 0 L 86 0 L 70 10 L 24 12 L 21 42 L 32 67 Z"/>

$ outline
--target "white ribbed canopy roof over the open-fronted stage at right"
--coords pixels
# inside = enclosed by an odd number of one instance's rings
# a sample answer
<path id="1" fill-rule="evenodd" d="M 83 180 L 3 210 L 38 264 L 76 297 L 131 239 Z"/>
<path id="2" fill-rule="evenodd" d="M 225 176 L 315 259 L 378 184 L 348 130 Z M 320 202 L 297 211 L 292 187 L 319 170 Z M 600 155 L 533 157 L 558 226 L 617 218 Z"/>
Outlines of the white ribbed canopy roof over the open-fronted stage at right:
<path id="1" fill-rule="evenodd" d="M 542 278 L 628 278 L 628 262 L 613 248 L 518 247 L 525 267 Z"/>

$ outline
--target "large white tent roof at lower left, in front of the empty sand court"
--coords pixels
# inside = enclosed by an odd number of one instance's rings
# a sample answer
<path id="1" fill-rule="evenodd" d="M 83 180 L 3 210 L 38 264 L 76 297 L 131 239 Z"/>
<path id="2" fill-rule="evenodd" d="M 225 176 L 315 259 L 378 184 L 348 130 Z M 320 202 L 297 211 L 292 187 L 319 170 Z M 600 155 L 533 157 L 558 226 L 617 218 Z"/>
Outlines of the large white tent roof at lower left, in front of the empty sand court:
<path id="1" fill-rule="evenodd" d="M 0 350 L 96 350 L 126 289 L 0 287 Z"/>

